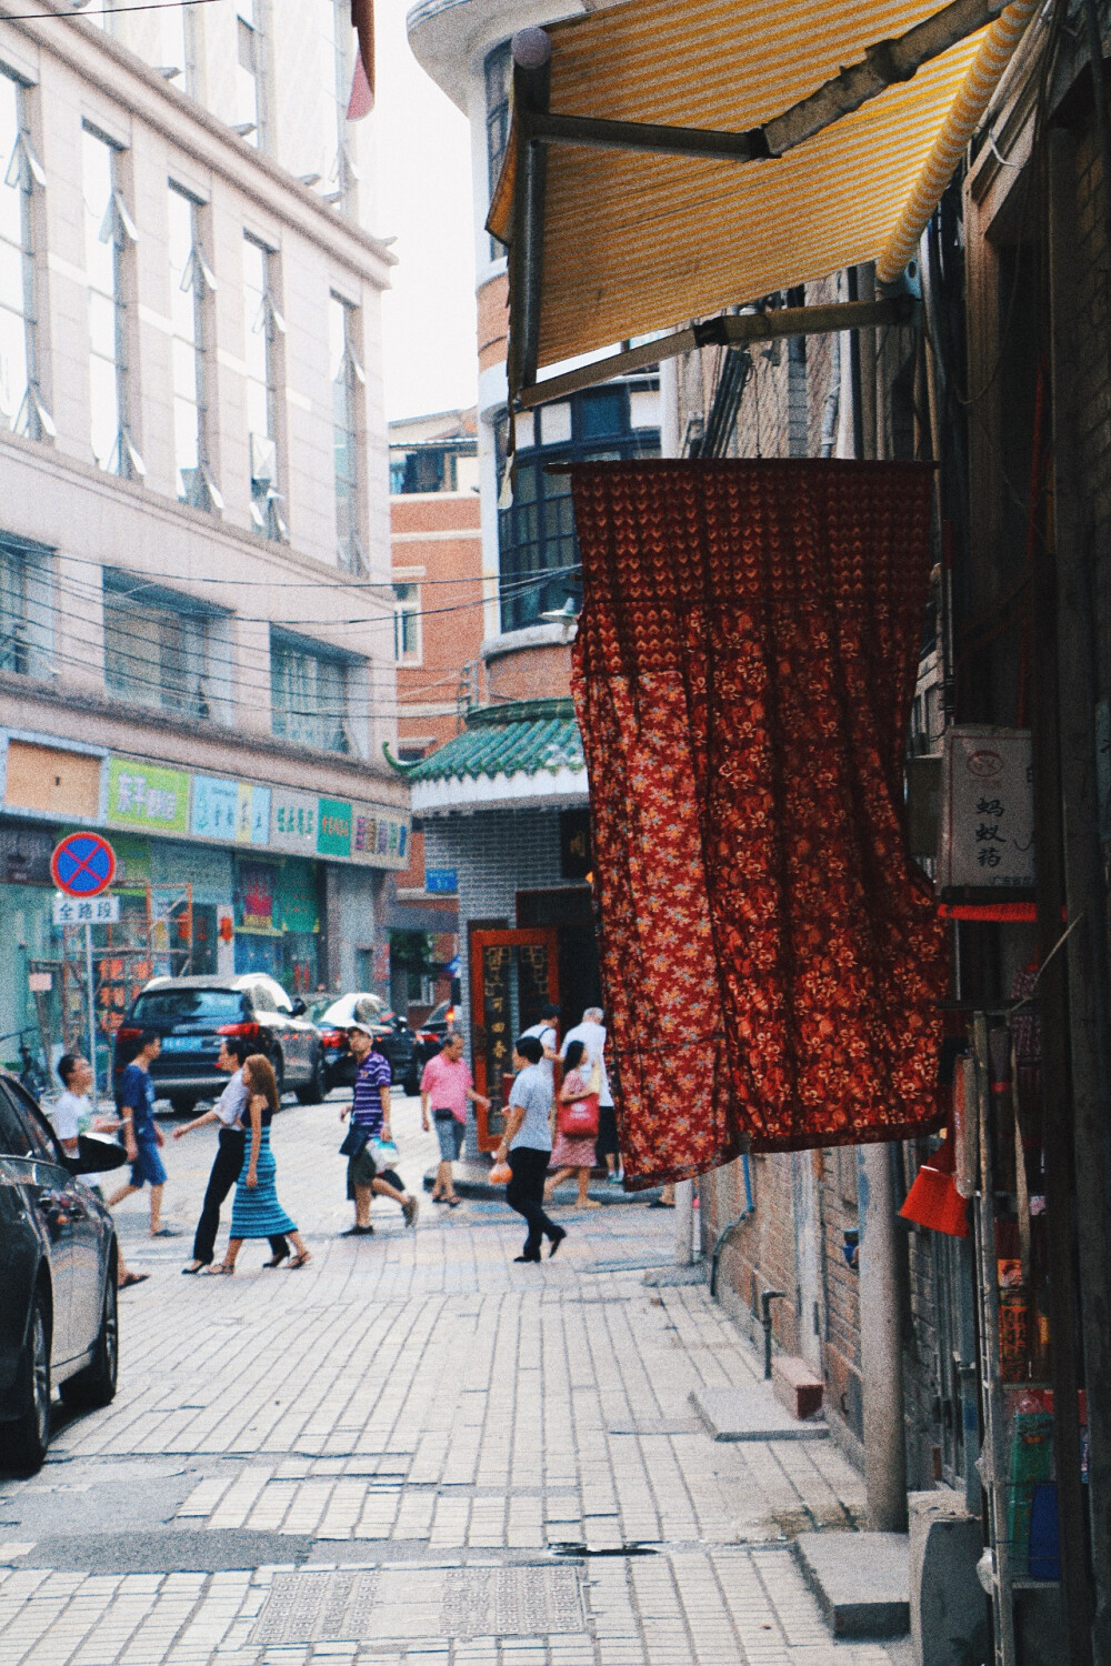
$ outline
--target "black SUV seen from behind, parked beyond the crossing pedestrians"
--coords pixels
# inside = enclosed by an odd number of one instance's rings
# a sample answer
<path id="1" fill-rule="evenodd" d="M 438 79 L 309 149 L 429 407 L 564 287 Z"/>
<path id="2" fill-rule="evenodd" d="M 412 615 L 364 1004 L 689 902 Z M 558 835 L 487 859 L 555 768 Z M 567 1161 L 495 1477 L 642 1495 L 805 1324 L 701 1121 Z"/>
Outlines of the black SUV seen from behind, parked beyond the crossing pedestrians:
<path id="1" fill-rule="evenodd" d="M 225 1036 L 245 1036 L 265 1053 L 278 1078 L 278 1091 L 296 1090 L 301 1105 L 313 1105 L 328 1091 L 320 1030 L 305 1018 L 305 1001 L 291 1001 L 281 985 L 265 973 L 153 978 L 117 1030 L 117 1095 L 143 1030 L 157 1030 L 162 1036 L 162 1053 L 150 1071 L 155 1093 L 170 1100 L 182 1115 L 188 1115 L 198 1100 L 212 1100 L 223 1091 L 228 1078 L 217 1070 L 217 1056 Z"/>

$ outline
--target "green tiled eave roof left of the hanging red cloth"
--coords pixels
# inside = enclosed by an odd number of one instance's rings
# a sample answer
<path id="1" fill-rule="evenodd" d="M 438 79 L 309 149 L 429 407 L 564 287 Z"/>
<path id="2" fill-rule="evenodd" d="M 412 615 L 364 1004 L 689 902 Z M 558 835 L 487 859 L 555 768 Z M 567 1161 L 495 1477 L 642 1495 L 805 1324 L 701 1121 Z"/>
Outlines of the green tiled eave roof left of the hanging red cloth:
<path id="1" fill-rule="evenodd" d="M 410 781 L 478 775 L 551 775 L 583 770 L 583 743 L 570 700 L 515 700 L 476 706 L 461 735 L 406 768 Z"/>

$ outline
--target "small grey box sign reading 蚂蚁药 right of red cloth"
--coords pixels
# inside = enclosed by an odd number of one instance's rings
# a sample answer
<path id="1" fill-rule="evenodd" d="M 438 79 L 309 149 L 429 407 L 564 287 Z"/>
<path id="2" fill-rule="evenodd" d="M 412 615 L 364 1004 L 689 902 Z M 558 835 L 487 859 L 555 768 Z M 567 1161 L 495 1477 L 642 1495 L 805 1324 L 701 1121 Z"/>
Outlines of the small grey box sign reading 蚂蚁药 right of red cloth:
<path id="1" fill-rule="evenodd" d="M 948 730 L 938 883 L 943 893 L 1034 885 L 1029 730 Z"/>

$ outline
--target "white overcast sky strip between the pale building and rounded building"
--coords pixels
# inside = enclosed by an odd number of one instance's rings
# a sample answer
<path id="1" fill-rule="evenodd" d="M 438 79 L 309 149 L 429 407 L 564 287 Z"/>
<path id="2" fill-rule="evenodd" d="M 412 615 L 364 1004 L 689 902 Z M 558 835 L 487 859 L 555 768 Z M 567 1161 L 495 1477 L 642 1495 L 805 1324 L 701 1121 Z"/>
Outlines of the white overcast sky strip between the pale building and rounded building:
<path id="1" fill-rule="evenodd" d="M 475 243 L 465 118 L 408 48 L 413 0 L 376 0 L 380 237 L 396 237 L 383 297 L 386 416 L 473 405 Z"/>

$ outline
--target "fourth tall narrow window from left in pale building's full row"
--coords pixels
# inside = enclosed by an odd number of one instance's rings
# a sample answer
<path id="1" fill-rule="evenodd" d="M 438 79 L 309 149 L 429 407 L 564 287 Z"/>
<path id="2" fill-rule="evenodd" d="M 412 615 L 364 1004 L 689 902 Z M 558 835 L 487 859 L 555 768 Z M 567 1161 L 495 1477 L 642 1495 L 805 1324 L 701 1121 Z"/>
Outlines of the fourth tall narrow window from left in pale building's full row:
<path id="1" fill-rule="evenodd" d="M 285 318 L 273 298 L 275 257 L 243 238 L 243 313 L 247 342 L 247 435 L 252 471 L 252 523 L 263 538 L 286 543 L 278 490 L 278 343 Z"/>

